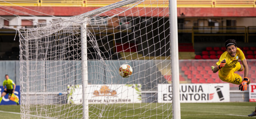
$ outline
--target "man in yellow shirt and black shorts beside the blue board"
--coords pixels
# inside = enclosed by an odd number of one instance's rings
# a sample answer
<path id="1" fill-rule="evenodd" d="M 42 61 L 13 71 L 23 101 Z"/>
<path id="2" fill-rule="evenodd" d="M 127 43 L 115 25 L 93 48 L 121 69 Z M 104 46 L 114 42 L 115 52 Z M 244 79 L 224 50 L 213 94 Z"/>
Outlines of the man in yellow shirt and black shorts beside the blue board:
<path id="1" fill-rule="evenodd" d="M 3 91 L 2 95 L 1 95 L 1 98 L 0 98 L 0 104 L 1 104 L 1 101 L 3 99 L 3 96 L 5 96 L 7 93 L 9 93 L 8 99 L 10 99 L 12 93 L 14 93 L 15 88 L 16 88 L 15 83 L 11 79 L 9 79 L 9 75 L 5 75 L 5 79 L 6 80 L 3 81 L 3 89 L 4 89 L 4 91 Z M 6 85 L 6 88 L 5 88 L 5 85 Z M 13 85 L 13 87 L 12 87 L 12 85 Z M 17 103 L 17 105 L 19 105 L 19 101 L 17 101 L 16 103 Z"/>

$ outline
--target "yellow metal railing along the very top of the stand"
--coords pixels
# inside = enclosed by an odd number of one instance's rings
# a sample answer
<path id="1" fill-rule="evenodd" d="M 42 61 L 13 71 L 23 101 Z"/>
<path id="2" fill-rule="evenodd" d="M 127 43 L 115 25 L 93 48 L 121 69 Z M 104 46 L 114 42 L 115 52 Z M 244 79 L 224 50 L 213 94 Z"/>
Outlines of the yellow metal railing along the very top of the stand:
<path id="1" fill-rule="evenodd" d="M 102 7 L 121 0 L 5 0 L 3 6 Z M 14 5 L 15 4 L 15 5 Z M 167 0 L 145 0 L 139 7 L 168 7 Z M 256 0 L 177 0 L 179 8 L 256 8 Z"/>

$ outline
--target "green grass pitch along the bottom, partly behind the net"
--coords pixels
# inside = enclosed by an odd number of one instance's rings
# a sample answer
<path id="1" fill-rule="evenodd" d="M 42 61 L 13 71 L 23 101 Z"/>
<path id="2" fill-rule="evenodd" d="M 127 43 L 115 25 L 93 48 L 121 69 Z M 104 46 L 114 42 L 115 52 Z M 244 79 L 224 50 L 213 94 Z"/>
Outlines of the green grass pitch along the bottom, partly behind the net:
<path id="1" fill-rule="evenodd" d="M 171 109 L 168 110 L 170 104 L 111 104 L 111 105 L 89 105 L 90 118 L 99 118 L 99 113 L 103 117 L 109 116 L 108 119 L 164 119 L 168 117 Z M 227 103 L 182 103 L 181 104 L 181 118 L 182 119 L 254 119 L 254 117 L 247 117 L 251 111 L 254 111 L 256 102 L 227 102 Z M 81 118 L 81 105 L 36 105 L 42 110 L 31 108 L 34 113 L 31 114 L 47 114 L 57 118 L 67 118 L 74 116 L 74 118 Z M 100 111 L 100 109 L 106 111 Z M 48 110 L 44 110 L 48 108 Z M 50 110 L 49 110 L 50 108 Z M 66 108 L 66 109 L 64 109 Z M 137 109 L 133 109 L 137 108 Z M 61 113 L 58 110 L 62 110 Z M 73 110 L 73 111 L 71 111 Z M 10 111 L 20 113 L 20 106 L 17 105 L 0 105 L 0 111 Z M 168 112 L 169 111 L 169 112 Z M 172 115 L 172 114 L 171 114 Z M 242 115 L 242 116 L 240 116 Z M 0 112 L 3 119 L 19 119 L 20 114 L 3 113 Z M 171 116 L 169 116 L 171 118 Z M 256 118 L 255 118 L 256 119 Z"/>

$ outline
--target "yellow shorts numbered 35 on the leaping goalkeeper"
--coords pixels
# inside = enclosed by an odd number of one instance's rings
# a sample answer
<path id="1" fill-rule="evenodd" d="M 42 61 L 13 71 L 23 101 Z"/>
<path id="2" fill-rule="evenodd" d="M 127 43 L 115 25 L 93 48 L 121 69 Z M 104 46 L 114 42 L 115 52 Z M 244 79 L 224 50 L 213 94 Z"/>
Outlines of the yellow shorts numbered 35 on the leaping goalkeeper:
<path id="1" fill-rule="evenodd" d="M 230 74 L 228 76 L 220 76 L 219 75 L 219 78 L 222 81 L 230 82 L 232 84 L 240 85 L 240 83 L 243 81 L 242 77 L 239 74 L 234 73 L 234 72 L 236 72 L 236 71 L 238 71 L 240 69 L 241 69 L 241 64 L 238 62 L 236 64 L 236 67 L 234 67 L 234 69 L 231 70 L 231 72 L 230 72 Z"/>

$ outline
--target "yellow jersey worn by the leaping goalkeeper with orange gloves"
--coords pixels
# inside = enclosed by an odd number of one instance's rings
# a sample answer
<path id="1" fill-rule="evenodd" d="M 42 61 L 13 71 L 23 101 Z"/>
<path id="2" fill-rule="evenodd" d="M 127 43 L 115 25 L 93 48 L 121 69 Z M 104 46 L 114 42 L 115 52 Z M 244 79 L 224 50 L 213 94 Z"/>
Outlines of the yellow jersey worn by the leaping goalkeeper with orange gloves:
<path id="1" fill-rule="evenodd" d="M 244 53 L 242 52 L 242 50 L 240 50 L 237 47 L 236 50 L 236 56 L 232 57 L 228 51 L 222 53 L 222 55 L 220 56 L 219 61 L 216 63 L 217 66 L 220 65 L 221 61 L 226 59 L 226 64 L 225 66 L 219 70 L 219 76 L 221 77 L 227 77 L 230 75 L 230 72 L 233 71 L 232 69 L 234 69 L 236 67 L 236 64 L 238 62 L 238 60 L 240 59 L 241 61 L 243 61 L 245 59 Z"/>

